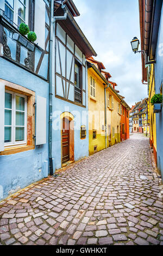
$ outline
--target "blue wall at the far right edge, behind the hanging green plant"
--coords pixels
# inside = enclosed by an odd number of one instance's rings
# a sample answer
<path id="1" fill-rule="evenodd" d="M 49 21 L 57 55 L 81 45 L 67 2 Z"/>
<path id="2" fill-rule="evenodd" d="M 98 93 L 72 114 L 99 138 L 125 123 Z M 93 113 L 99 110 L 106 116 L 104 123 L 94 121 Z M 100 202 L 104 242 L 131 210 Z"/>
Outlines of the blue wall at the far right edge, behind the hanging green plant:
<path id="1" fill-rule="evenodd" d="M 163 6 L 161 11 L 158 44 L 156 49 L 155 64 L 155 93 L 160 93 L 160 86 L 163 83 Z M 158 169 L 161 171 L 163 181 L 163 110 L 156 114 L 156 139 L 157 139 L 157 161 Z"/>

